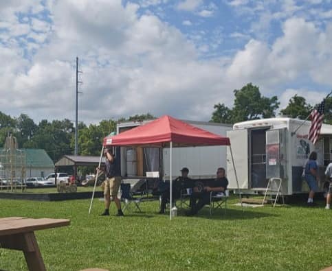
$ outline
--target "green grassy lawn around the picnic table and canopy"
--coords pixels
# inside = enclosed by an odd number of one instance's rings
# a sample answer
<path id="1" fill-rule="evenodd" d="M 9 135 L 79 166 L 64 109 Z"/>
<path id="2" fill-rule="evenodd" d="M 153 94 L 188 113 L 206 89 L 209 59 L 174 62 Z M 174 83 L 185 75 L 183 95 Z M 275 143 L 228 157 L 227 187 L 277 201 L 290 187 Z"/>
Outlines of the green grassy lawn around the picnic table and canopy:
<path id="1" fill-rule="evenodd" d="M 229 203 L 227 215 L 157 215 L 158 202 L 142 202 L 144 213 L 100 217 L 103 202 L 0 200 L 1 217 L 68 218 L 71 225 L 36 231 L 47 270 L 320 270 L 332 266 L 332 210 L 324 203 L 245 208 Z M 302 206 L 303 205 L 303 206 Z M 111 213 L 115 213 L 114 206 Z M 22 252 L 0 248 L 0 269 L 27 270 Z"/>

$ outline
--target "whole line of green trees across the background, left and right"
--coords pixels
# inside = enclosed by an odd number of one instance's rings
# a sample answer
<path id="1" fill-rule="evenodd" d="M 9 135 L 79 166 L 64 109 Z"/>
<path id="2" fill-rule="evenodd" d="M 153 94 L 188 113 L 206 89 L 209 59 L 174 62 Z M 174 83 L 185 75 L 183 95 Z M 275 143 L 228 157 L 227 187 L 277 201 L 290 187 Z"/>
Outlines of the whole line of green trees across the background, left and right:
<path id="1" fill-rule="evenodd" d="M 228 108 L 225 104 L 214 104 L 214 111 L 210 121 L 217 123 L 236 123 L 250 119 L 275 117 L 279 109 L 278 97 L 261 95 L 258 86 L 246 84 L 241 89 L 234 90 L 234 106 Z M 294 95 L 289 99 L 286 108 L 280 110 L 280 115 L 298 119 L 306 119 L 313 106 L 308 104 L 305 97 Z M 80 155 L 99 155 L 102 140 L 111 132 L 115 132 L 116 125 L 123 121 L 144 121 L 153 119 L 150 113 L 133 115 L 118 120 L 104 119 L 98 124 L 80 122 L 78 124 L 78 152 Z M 324 123 L 332 123 L 332 97 L 326 99 Z M 0 112 L 0 143 L 3 145 L 5 137 L 13 134 L 19 142 L 19 148 L 44 149 L 54 162 L 65 154 L 74 154 L 75 128 L 69 119 L 48 121 L 41 120 L 34 123 L 26 114 L 11 117 Z"/>

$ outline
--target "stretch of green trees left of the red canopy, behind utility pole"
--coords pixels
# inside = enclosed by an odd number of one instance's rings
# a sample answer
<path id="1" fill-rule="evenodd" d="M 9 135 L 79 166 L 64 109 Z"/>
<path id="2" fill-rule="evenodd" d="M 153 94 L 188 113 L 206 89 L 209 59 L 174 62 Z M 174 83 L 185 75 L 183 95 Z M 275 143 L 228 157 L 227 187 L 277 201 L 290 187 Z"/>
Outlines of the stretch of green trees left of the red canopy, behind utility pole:
<path id="1" fill-rule="evenodd" d="M 116 131 L 116 125 L 123 121 L 143 121 L 152 119 L 150 113 L 133 115 L 118 120 L 104 119 L 98 124 L 78 123 L 78 152 L 80 155 L 100 155 L 102 140 L 111 132 Z M 54 163 L 65 154 L 74 154 L 75 128 L 69 119 L 34 123 L 26 114 L 11 117 L 0 112 L 0 143 L 4 145 L 9 134 L 16 137 L 19 148 L 44 149 Z"/>

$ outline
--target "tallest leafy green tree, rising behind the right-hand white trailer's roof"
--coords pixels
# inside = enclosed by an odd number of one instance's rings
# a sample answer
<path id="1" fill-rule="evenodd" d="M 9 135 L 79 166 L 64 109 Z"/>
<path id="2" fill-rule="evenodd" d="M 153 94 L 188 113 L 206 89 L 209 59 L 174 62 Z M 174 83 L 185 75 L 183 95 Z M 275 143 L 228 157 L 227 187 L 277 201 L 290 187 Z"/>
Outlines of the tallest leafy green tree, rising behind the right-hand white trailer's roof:
<path id="1" fill-rule="evenodd" d="M 280 105 L 278 97 L 262 96 L 258 86 L 252 83 L 246 84 L 242 89 L 234 90 L 234 95 L 232 122 L 275 117 L 275 110 Z"/>

